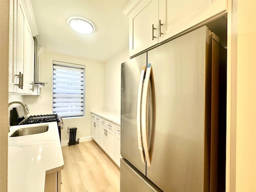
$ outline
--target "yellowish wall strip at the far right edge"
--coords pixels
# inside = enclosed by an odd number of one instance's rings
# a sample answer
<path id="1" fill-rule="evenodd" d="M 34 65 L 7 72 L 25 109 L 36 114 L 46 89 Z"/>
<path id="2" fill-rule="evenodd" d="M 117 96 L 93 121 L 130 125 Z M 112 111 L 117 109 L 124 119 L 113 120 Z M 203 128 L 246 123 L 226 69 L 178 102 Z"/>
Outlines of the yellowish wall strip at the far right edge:
<path id="1" fill-rule="evenodd" d="M 236 192 L 256 191 L 256 1 L 237 3 Z"/>

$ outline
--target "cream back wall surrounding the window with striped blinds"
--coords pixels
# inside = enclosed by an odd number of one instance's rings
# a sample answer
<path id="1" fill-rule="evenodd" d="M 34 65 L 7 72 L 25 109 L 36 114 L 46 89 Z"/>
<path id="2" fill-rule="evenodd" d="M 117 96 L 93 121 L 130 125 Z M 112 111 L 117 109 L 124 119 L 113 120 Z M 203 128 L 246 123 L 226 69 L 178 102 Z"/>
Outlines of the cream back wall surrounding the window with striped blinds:
<path id="1" fill-rule="evenodd" d="M 52 60 L 85 65 L 85 116 L 64 118 L 64 129 L 61 132 L 61 140 L 67 144 L 69 139 L 68 127 L 78 128 L 76 138 L 80 138 L 80 141 L 90 140 L 90 112 L 92 110 L 103 110 L 104 64 L 82 58 L 54 54 L 44 49 L 42 50 L 42 54 L 40 54 L 40 58 L 40 81 L 48 82 L 48 84 L 42 87 L 40 96 L 23 96 L 24 103 L 28 104 L 28 108 L 30 109 L 30 115 L 52 114 Z"/>

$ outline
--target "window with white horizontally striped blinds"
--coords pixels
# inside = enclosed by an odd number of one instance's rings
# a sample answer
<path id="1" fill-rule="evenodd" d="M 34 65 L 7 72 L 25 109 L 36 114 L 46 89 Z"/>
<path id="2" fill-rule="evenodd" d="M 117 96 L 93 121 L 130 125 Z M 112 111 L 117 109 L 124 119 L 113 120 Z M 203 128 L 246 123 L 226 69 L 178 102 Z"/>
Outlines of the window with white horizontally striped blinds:
<path id="1" fill-rule="evenodd" d="M 84 66 L 53 61 L 53 113 L 84 115 Z"/>

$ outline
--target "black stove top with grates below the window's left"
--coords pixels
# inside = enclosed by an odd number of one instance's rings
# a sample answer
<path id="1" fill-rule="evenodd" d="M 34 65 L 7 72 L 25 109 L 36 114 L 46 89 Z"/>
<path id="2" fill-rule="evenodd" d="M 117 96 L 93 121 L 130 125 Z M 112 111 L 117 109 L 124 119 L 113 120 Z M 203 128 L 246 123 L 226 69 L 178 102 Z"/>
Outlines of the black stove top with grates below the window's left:
<path id="1" fill-rule="evenodd" d="M 45 122 L 58 122 L 58 114 L 46 114 L 46 115 L 33 115 L 29 116 L 24 122 L 21 124 L 33 124 L 33 123 L 45 123 Z"/>

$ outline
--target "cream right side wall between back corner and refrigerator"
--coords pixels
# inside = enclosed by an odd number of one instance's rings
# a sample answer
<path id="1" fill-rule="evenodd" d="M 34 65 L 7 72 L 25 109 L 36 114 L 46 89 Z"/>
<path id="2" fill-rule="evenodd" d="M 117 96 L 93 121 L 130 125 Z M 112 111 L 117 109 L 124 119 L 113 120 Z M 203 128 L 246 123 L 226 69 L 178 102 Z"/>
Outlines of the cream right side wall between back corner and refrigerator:
<path id="1" fill-rule="evenodd" d="M 120 114 L 121 63 L 129 60 L 129 50 L 120 52 L 104 64 L 104 110 Z"/>

